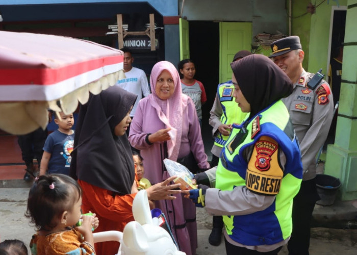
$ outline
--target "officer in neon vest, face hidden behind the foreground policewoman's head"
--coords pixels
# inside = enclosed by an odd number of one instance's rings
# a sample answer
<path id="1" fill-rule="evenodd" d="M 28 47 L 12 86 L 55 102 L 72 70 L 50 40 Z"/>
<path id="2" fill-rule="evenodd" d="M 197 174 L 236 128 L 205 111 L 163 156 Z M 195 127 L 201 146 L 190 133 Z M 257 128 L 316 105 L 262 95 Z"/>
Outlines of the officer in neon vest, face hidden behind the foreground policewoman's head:
<path id="1" fill-rule="evenodd" d="M 234 55 L 233 62 L 248 55 L 251 55 L 248 50 L 240 50 Z M 233 90 L 232 81 L 218 84 L 216 98 L 210 111 L 209 123 L 213 127 L 212 134 L 215 138 L 211 149 L 211 167 L 218 165 L 219 155 L 225 141 L 230 136 L 232 123 L 240 124 L 247 115 L 238 107 L 233 97 Z M 208 239 L 211 245 L 217 246 L 221 243 L 222 227 L 222 216 L 213 216 L 213 228 Z"/>

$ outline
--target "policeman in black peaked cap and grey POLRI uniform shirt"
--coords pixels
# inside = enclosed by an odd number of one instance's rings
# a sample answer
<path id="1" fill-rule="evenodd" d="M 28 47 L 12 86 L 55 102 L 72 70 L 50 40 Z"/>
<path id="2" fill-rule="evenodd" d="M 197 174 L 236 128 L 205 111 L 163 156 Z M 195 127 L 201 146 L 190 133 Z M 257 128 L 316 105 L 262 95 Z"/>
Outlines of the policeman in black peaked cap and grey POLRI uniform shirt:
<path id="1" fill-rule="evenodd" d="M 314 73 L 302 68 L 304 52 L 298 36 L 289 36 L 271 44 L 269 56 L 294 84 L 293 93 L 283 98 L 300 142 L 303 181 L 293 203 L 293 232 L 288 243 L 289 255 L 308 255 L 310 223 L 315 202 L 316 154 L 324 144 L 333 118 L 334 103 L 324 80 L 313 84 Z"/>

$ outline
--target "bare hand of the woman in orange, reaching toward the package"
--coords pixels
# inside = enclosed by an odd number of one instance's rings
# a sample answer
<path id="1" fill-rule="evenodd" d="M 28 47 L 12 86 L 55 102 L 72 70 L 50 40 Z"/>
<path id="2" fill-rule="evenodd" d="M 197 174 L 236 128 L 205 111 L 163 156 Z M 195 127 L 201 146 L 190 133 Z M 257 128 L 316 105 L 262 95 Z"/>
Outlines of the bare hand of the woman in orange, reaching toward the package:
<path id="1" fill-rule="evenodd" d="M 181 190 L 174 190 L 176 188 L 179 188 L 181 186 L 181 183 L 171 185 L 169 185 L 169 183 L 173 181 L 176 177 L 177 176 L 172 176 L 161 183 L 157 183 L 147 188 L 147 198 L 149 200 L 175 199 L 176 197 L 172 196 L 172 194 L 181 193 Z"/>

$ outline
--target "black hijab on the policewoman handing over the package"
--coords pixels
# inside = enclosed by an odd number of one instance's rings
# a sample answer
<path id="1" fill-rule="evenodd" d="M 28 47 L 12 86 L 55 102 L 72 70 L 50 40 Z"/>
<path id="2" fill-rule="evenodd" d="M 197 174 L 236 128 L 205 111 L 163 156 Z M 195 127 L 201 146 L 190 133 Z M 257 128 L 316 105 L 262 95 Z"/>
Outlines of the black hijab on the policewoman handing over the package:
<path id="1" fill-rule="evenodd" d="M 288 75 L 264 55 L 249 55 L 231 63 L 231 67 L 250 104 L 250 117 L 293 91 Z"/>

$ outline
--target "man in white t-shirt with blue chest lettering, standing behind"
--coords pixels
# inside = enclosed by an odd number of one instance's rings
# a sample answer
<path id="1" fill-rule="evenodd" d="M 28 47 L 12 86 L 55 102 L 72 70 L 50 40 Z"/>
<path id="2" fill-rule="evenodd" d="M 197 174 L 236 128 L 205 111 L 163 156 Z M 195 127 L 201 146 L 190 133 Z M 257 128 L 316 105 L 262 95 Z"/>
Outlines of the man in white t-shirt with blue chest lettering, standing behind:
<path id="1" fill-rule="evenodd" d="M 122 48 L 121 50 L 124 52 L 124 73 L 126 78 L 118 80 L 117 85 L 126 91 L 138 95 L 133 110 L 130 112 L 130 117 L 133 118 L 140 99 L 142 96 L 148 96 L 150 89 L 145 72 L 133 66 L 134 58 L 131 51 L 126 48 Z M 129 128 L 126 134 L 129 136 Z"/>

